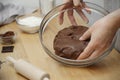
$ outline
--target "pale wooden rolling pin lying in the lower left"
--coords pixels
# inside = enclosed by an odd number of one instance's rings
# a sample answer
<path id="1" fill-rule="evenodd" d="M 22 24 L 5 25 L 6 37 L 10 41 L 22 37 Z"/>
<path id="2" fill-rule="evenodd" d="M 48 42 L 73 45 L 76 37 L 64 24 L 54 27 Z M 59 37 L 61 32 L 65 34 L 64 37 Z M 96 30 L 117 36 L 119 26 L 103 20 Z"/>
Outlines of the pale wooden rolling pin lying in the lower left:
<path id="1" fill-rule="evenodd" d="M 50 80 L 48 73 L 40 70 L 39 68 L 26 62 L 23 59 L 15 60 L 10 56 L 8 56 L 6 59 L 7 61 L 13 63 L 16 72 L 20 73 L 30 80 Z"/>

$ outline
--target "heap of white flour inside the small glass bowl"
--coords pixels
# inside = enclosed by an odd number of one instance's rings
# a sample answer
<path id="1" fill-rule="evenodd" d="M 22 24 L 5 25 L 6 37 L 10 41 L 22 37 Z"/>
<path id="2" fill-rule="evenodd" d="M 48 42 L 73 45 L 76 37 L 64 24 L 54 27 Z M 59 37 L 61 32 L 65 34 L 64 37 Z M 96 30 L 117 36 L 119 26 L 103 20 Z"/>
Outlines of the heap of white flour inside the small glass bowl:
<path id="1" fill-rule="evenodd" d="M 28 27 L 36 27 L 40 26 L 42 18 L 30 16 L 23 19 L 18 20 L 18 24 L 28 26 Z"/>

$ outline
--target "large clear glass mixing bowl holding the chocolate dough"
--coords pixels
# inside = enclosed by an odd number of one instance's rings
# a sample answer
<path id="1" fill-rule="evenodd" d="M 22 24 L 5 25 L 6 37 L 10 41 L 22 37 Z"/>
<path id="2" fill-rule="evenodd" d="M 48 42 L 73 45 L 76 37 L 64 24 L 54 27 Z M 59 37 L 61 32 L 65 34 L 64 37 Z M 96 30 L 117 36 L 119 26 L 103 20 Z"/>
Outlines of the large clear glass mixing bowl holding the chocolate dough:
<path id="1" fill-rule="evenodd" d="M 80 67 L 85 67 L 92 65 L 94 63 L 99 62 L 101 59 L 103 59 L 105 56 L 107 56 L 112 48 L 114 41 L 112 42 L 111 46 L 100 56 L 94 58 L 94 59 L 83 59 L 83 60 L 71 60 L 71 59 L 66 59 L 59 57 L 55 54 L 54 48 L 53 48 L 53 41 L 56 36 L 56 34 L 63 28 L 71 26 L 71 22 L 69 21 L 67 11 L 73 10 L 74 11 L 74 17 L 78 25 L 84 25 L 84 26 L 91 26 L 95 21 L 98 19 L 104 17 L 107 15 L 109 12 L 105 10 L 104 8 L 90 2 L 85 2 L 89 9 L 91 10 L 91 14 L 85 13 L 87 18 L 89 19 L 89 23 L 86 24 L 81 17 L 78 15 L 78 13 L 75 11 L 76 7 L 71 7 L 67 8 L 65 10 L 60 10 L 61 7 L 63 7 L 66 4 L 70 3 L 65 3 L 60 6 L 55 7 L 52 9 L 43 19 L 41 25 L 40 25 L 40 41 L 41 44 L 45 50 L 45 52 L 52 57 L 54 60 L 61 62 L 63 64 L 68 64 L 68 65 L 74 65 L 74 66 L 80 66 Z M 62 25 L 59 24 L 59 15 L 64 12 L 64 22 Z"/>

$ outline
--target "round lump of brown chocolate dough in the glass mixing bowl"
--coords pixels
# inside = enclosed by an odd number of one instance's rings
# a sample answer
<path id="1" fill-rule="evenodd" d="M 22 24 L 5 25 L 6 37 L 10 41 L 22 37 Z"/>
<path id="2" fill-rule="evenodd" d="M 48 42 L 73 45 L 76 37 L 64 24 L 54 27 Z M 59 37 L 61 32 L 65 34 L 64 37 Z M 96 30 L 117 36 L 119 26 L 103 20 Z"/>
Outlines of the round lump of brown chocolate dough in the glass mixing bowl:
<path id="1" fill-rule="evenodd" d="M 67 59 L 77 59 L 90 41 L 79 40 L 87 29 L 85 26 L 70 26 L 59 31 L 54 39 L 55 54 Z"/>

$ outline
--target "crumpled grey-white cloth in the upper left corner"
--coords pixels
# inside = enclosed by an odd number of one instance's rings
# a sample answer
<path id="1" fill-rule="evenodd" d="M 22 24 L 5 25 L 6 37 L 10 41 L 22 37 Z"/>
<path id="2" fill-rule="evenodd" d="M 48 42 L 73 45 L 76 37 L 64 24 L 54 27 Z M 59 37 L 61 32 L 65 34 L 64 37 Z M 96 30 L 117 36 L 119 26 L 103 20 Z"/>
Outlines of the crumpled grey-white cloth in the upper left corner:
<path id="1" fill-rule="evenodd" d="M 16 16 L 32 13 L 36 9 L 25 9 L 21 5 L 13 3 L 3 4 L 0 2 L 0 26 L 11 23 L 15 20 Z"/>

